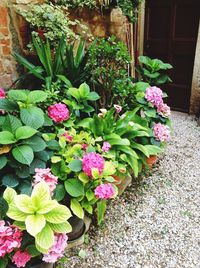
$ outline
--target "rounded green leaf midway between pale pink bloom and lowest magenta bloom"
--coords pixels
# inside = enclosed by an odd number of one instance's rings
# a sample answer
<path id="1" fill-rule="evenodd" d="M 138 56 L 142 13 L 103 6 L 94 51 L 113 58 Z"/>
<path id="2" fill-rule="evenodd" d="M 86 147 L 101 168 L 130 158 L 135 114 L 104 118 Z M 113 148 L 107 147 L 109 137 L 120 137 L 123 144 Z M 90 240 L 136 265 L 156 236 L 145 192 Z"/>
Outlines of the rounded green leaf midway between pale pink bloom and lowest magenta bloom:
<path id="1" fill-rule="evenodd" d="M 84 186 L 77 179 L 68 179 L 64 182 L 65 189 L 73 197 L 84 195 Z"/>

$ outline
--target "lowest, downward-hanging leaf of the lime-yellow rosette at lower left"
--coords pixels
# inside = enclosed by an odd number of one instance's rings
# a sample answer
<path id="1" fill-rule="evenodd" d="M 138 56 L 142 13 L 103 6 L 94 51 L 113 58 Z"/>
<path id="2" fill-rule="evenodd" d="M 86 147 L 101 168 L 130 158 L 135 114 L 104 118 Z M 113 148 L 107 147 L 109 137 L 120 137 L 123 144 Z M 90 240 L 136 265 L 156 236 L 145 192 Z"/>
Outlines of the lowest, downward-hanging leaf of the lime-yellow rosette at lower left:
<path id="1" fill-rule="evenodd" d="M 54 232 L 48 224 L 46 224 L 45 227 L 42 229 L 42 231 L 36 235 L 35 241 L 37 245 L 43 249 L 49 249 L 50 247 L 53 246 Z M 39 250 L 38 247 L 37 249 Z"/>

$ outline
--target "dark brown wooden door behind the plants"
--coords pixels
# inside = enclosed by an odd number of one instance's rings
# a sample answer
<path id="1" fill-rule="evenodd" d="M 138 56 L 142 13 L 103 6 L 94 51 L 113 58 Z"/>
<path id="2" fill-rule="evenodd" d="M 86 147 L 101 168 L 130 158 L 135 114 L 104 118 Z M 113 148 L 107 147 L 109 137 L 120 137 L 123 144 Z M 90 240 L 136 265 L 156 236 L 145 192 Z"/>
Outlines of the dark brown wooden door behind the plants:
<path id="1" fill-rule="evenodd" d="M 144 54 L 173 65 L 168 104 L 189 111 L 200 0 L 146 0 Z"/>

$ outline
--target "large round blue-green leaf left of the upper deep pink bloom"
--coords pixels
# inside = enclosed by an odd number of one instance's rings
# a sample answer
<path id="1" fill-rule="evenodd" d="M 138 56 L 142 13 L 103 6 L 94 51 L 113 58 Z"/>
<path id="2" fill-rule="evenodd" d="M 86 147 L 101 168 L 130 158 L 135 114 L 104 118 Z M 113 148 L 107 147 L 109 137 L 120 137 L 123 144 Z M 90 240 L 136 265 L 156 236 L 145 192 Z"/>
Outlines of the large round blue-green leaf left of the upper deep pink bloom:
<path id="1" fill-rule="evenodd" d="M 40 108 L 28 107 L 20 111 L 22 122 L 32 128 L 38 129 L 44 124 L 44 113 Z"/>

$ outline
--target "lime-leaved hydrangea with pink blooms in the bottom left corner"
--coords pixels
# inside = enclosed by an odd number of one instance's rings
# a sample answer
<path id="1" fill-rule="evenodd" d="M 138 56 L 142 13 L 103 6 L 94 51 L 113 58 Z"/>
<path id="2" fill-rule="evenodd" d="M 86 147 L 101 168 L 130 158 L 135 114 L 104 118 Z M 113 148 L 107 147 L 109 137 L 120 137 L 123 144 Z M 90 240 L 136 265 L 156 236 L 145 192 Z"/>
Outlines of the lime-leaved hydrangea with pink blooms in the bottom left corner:
<path id="1" fill-rule="evenodd" d="M 7 188 L 3 194 L 8 204 L 5 220 L 0 220 L 0 267 L 16 267 L 59 260 L 67 246 L 67 220 L 70 210 L 50 197 L 47 183 L 34 186 L 31 196 L 17 195 Z"/>

